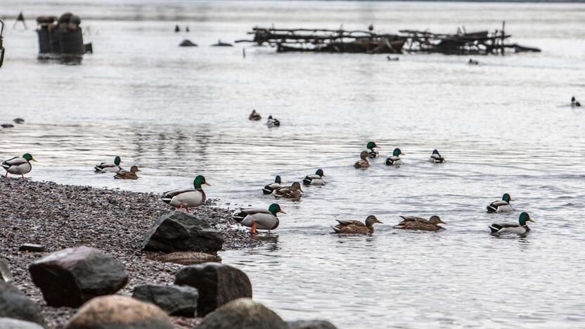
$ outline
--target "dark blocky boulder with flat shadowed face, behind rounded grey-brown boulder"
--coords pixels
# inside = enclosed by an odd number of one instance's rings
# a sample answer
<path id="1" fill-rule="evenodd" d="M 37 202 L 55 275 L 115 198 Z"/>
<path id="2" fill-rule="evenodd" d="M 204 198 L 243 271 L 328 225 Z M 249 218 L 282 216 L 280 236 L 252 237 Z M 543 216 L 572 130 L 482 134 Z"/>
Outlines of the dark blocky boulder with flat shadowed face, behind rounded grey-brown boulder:
<path id="1" fill-rule="evenodd" d="M 205 316 L 233 299 L 252 298 L 252 283 L 248 276 L 243 271 L 225 264 L 204 263 L 186 266 L 176 272 L 174 284 L 197 288 L 198 316 Z"/>

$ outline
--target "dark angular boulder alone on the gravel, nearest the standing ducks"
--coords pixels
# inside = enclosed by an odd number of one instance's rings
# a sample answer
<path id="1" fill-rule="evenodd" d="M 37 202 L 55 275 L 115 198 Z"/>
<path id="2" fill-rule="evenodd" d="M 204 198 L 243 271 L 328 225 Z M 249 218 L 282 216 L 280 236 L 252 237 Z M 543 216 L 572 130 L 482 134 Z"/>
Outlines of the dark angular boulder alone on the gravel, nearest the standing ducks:
<path id="1" fill-rule="evenodd" d="M 198 214 L 171 212 L 155 221 L 146 232 L 142 249 L 154 252 L 194 251 L 215 253 L 224 238 Z"/>

